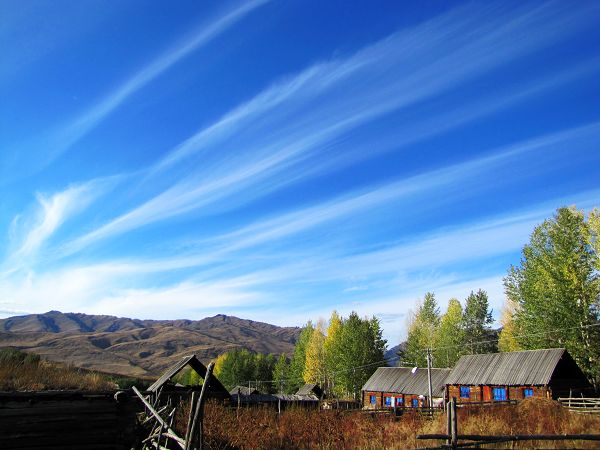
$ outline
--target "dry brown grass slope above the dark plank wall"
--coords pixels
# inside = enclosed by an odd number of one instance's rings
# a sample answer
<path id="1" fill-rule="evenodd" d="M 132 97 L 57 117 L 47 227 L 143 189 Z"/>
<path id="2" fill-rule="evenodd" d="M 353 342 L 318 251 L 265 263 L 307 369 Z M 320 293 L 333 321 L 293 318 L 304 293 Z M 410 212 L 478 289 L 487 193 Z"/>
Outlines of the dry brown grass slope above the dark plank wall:
<path id="1" fill-rule="evenodd" d="M 0 391 L 44 391 L 114 389 L 105 376 L 52 363 L 14 349 L 0 352 Z"/>

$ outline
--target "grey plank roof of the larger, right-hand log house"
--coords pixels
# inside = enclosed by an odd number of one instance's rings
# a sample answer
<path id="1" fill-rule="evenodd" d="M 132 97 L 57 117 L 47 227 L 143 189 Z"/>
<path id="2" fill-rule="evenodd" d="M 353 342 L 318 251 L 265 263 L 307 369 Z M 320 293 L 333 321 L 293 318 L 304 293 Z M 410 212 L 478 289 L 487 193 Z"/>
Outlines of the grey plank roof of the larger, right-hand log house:
<path id="1" fill-rule="evenodd" d="M 547 385 L 564 348 L 462 356 L 446 384 Z"/>

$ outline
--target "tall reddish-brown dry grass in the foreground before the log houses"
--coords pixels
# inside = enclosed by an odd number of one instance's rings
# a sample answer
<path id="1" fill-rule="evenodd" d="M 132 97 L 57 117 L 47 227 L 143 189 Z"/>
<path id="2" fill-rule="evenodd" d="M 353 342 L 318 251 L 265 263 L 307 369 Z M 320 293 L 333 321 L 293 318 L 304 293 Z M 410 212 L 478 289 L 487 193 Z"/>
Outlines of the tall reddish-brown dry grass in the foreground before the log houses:
<path id="1" fill-rule="evenodd" d="M 528 399 L 518 406 L 460 410 L 460 434 L 600 434 L 600 417 L 571 414 L 549 400 Z M 184 434 L 187 408 L 177 427 Z M 444 433 L 446 417 L 434 420 L 407 413 L 400 418 L 361 412 L 226 408 L 209 403 L 205 442 L 222 449 L 404 449 L 433 447 L 441 441 L 417 440 L 417 434 Z M 484 448 L 597 448 L 598 441 L 520 442 Z"/>

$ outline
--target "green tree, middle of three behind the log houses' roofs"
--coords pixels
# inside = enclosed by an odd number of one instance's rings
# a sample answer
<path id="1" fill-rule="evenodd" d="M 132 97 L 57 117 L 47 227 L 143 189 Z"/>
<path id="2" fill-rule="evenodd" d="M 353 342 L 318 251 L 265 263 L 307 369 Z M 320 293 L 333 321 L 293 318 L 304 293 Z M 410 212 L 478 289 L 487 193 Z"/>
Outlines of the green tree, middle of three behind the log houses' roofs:
<path id="1" fill-rule="evenodd" d="M 435 336 L 433 364 L 435 367 L 452 367 L 464 353 L 465 331 L 463 327 L 463 309 L 460 302 L 453 298 L 440 320 Z"/>

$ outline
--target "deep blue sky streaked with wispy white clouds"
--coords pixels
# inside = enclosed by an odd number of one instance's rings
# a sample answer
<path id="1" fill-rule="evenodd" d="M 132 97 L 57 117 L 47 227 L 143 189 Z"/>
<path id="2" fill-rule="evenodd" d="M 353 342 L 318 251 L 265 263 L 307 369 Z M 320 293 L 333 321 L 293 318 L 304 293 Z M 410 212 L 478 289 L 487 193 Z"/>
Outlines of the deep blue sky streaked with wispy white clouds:
<path id="1" fill-rule="evenodd" d="M 0 0 L 0 315 L 376 315 L 600 206 L 600 4 Z"/>

